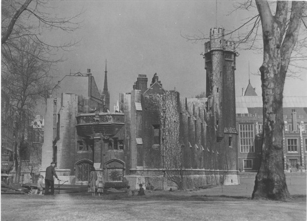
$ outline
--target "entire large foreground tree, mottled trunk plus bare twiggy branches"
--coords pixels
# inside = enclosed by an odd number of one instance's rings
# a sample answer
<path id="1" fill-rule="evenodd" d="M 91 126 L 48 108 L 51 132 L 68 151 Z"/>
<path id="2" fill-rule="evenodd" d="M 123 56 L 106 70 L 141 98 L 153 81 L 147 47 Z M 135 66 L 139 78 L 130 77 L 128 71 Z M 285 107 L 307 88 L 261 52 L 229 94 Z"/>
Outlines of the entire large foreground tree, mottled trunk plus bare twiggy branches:
<path id="1" fill-rule="evenodd" d="M 235 32 L 245 28 L 236 38 L 238 46 L 246 49 L 260 50 L 264 60 L 260 67 L 264 131 L 261 153 L 261 165 L 256 175 L 253 198 L 283 200 L 290 197 L 286 177 L 283 172 L 282 97 L 286 76 L 296 70 L 306 69 L 306 3 L 303 1 L 248 0 L 238 3 L 235 10 L 257 9 L 258 14 L 247 20 L 235 30 L 228 32 L 235 40 Z M 300 25 L 303 29 L 300 29 Z M 260 26 L 261 25 L 261 26 Z M 208 39 L 205 35 L 184 36 L 194 42 Z M 261 37 L 263 45 L 259 45 Z"/>

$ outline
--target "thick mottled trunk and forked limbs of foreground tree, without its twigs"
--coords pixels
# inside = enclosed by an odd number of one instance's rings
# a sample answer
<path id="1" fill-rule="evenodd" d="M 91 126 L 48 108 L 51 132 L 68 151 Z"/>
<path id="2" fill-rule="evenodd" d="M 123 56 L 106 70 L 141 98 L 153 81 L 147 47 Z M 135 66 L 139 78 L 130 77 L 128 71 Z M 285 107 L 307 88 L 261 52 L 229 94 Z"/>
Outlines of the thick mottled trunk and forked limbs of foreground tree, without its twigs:
<path id="1" fill-rule="evenodd" d="M 303 2 L 292 2 L 286 35 L 288 1 L 277 2 L 273 16 L 267 1 L 256 0 L 261 18 L 264 61 L 260 67 L 264 134 L 261 165 L 256 175 L 253 198 L 290 198 L 283 168 L 282 93 L 290 55 L 298 37 Z"/>

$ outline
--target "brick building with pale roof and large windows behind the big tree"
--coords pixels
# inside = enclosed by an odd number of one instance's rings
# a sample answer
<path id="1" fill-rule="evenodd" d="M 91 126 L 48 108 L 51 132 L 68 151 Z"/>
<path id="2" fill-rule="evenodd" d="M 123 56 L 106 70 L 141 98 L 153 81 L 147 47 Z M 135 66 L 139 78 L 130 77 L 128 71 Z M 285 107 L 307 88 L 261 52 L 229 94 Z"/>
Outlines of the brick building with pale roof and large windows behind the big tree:
<path id="1" fill-rule="evenodd" d="M 284 170 L 306 169 L 307 97 L 283 97 L 283 160 Z M 239 132 L 238 169 L 257 171 L 262 146 L 262 97 L 251 83 L 241 97 L 236 97 L 236 122 Z"/>

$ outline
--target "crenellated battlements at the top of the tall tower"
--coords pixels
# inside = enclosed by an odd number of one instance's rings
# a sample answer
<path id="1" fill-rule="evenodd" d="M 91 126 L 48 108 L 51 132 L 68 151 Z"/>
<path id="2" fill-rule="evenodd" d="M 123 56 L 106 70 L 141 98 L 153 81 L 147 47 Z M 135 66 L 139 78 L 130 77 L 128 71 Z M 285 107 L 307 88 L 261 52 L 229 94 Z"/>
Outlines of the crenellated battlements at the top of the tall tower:
<path id="1" fill-rule="evenodd" d="M 210 29 L 210 41 L 205 43 L 205 53 L 211 50 L 235 51 L 234 41 L 224 39 L 224 28 Z"/>

